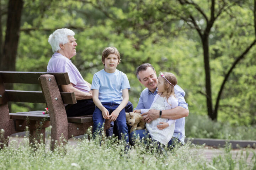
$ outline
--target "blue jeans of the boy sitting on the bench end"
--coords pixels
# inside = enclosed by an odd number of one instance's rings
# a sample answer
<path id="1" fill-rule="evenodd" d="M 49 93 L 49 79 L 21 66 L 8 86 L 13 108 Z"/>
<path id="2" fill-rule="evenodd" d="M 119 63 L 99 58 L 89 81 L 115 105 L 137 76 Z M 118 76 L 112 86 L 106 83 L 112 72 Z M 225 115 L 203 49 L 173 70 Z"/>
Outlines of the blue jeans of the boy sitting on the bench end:
<path id="1" fill-rule="evenodd" d="M 101 104 L 108 110 L 110 115 L 119 106 L 119 104 L 115 102 L 103 102 Z M 93 131 L 93 134 L 95 134 L 95 132 L 101 130 L 102 124 L 105 123 L 105 120 L 106 120 L 102 117 L 101 110 L 97 106 L 95 107 L 94 113 L 92 115 L 92 120 L 93 120 L 92 131 Z M 128 127 L 126 125 L 126 113 L 124 109 L 119 113 L 116 119 L 116 123 L 117 123 L 118 135 L 121 136 L 121 133 L 122 133 L 126 138 L 126 143 L 129 143 Z"/>

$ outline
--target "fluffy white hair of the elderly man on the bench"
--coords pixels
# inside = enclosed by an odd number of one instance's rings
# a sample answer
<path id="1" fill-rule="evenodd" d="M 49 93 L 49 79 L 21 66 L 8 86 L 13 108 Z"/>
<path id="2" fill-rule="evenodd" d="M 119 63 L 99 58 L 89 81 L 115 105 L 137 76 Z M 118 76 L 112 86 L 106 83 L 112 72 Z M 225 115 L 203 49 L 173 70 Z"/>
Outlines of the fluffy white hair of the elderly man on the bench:
<path id="1" fill-rule="evenodd" d="M 66 44 L 69 42 L 68 36 L 74 35 L 75 33 L 68 28 L 57 29 L 52 34 L 50 34 L 48 42 L 52 46 L 53 52 L 60 50 L 60 44 Z"/>

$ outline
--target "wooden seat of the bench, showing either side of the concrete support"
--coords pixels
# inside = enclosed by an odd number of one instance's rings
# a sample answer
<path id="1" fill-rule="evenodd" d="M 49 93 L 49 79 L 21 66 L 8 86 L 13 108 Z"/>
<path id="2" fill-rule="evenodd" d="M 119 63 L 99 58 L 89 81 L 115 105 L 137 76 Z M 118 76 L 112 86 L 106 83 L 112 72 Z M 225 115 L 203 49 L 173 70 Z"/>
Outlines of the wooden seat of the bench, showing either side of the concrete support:
<path id="1" fill-rule="evenodd" d="M 42 120 L 42 118 L 47 117 L 46 121 L 50 121 L 49 114 L 43 114 L 42 112 L 44 111 L 10 113 L 10 119 L 26 120 L 27 117 L 29 117 L 29 120 Z M 92 115 L 68 117 L 68 122 L 70 123 L 85 123 L 91 121 Z"/>

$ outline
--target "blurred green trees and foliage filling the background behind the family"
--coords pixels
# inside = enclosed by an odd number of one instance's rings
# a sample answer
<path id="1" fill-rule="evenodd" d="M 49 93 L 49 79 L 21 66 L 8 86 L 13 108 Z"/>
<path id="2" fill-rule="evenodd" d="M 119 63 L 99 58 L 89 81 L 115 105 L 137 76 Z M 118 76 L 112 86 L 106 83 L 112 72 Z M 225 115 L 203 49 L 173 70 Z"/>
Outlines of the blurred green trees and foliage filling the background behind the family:
<path id="1" fill-rule="evenodd" d="M 8 30 L 8 2 L 0 0 L 3 44 Z M 49 34 L 58 28 L 69 28 L 76 33 L 78 43 L 77 55 L 71 60 L 90 83 L 93 74 L 103 69 L 104 47 L 117 47 L 122 59 L 117 69 L 129 78 L 132 87 L 129 100 L 134 107 L 144 89 L 135 71 L 140 64 L 149 62 L 157 74 L 166 71 L 177 76 L 178 85 L 186 92 L 190 114 L 208 115 L 233 125 L 256 124 L 253 1 L 22 2 L 20 38 L 16 60 L 12 60 L 15 67 L 11 70 L 45 72 L 53 54 Z M 6 60 L 0 62 L 0 70 L 4 70 L 2 65 Z M 14 88 L 38 90 L 39 87 Z M 15 103 L 12 112 L 43 108 L 40 104 Z"/>

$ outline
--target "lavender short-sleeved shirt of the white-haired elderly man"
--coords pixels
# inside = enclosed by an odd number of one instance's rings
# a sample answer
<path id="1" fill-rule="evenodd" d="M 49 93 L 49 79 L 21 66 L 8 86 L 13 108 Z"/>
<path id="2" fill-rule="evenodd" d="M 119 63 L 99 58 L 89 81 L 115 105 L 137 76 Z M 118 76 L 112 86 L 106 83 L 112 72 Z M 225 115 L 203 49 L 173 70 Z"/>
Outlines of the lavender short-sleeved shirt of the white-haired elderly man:
<path id="1" fill-rule="evenodd" d="M 91 90 L 72 61 L 58 52 L 55 52 L 49 60 L 47 72 L 67 72 L 73 87 L 83 92 L 89 92 Z"/>

